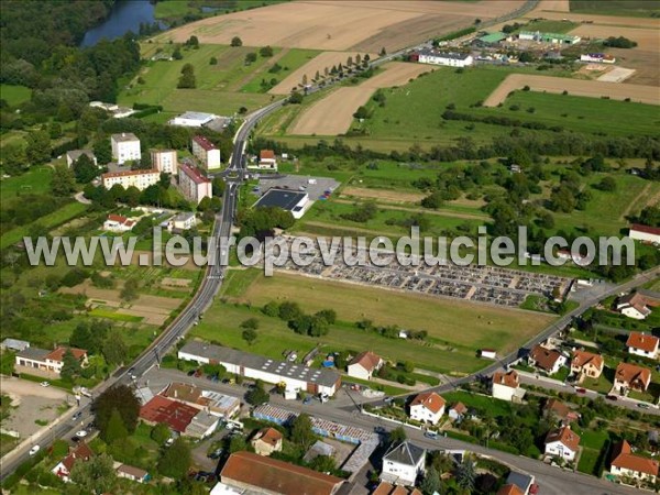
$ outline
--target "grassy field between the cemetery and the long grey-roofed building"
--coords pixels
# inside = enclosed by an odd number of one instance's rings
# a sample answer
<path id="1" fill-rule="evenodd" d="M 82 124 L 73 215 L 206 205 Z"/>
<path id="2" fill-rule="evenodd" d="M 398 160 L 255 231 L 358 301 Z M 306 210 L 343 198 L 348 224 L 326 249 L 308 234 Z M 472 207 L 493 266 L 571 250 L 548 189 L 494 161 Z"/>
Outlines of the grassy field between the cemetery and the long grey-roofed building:
<path id="1" fill-rule="evenodd" d="M 249 282 L 250 278 L 254 279 Z M 235 292 L 231 289 L 234 283 L 246 287 Z M 261 273 L 257 276 L 241 273 L 237 279 L 230 278 L 230 289 L 234 296 L 228 302 L 250 302 L 251 307 L 216 304 L 194 328 L 193 334 L 274 359 L 280 359 L 285 349 L 305 353 L 320 341 L 323 351 L 328 352 L 346 348 L 354 351 L 370 349 L 394 361 L 413 360 L 428 370 L 469 373 L 484 365 L 475 358 L 480 346 L 512 351 L 552 321 L 552 317 L 541 314 L 312 280 L 283 273 L 267 278 Z M 333 308 L 340 321 L 327 336 L 309 338 L 295 333 L 285 321 L 266 317 L 258 310 L 271 300 L 285 299 L 297 301 L 307 312 Z M 258 338 L 251 346 L 242 340 L 239 326 L 248 318 L 260 320 Z M 431 345 L 386 339 L 375 332 L 359 330 L 353 323 L 364 318 L 372 319 L 374 324 L 427 330 Z M 429 324 L 431 321 L 432 326 Z"/>

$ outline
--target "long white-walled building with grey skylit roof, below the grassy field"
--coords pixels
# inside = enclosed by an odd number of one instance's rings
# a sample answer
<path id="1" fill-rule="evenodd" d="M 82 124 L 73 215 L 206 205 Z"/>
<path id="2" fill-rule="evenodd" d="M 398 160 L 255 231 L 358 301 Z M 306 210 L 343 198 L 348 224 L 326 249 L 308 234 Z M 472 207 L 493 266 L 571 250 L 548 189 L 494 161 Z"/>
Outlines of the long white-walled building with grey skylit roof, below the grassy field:
<path id="1" fill-rule="evenodd" d="M 341 375 L 331 370 L 317 370 L 301 364 L 276 361 L 206 342 L 188 342 L 178 351 L 178 359 L 198 364 L 222 364 L 229 373 L 266 383 L 284 383 L 287 391 L 333 395 Z"/>

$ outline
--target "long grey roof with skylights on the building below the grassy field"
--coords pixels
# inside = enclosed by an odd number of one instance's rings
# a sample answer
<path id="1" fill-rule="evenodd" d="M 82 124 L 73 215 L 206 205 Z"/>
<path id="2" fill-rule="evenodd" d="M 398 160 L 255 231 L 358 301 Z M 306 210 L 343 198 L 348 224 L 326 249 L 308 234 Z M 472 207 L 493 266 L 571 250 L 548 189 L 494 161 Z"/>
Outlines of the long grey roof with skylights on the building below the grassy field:
<path id="1" fill-rule="evenodd" d="M 300 380 L 331 387 L 339 380 L 339 373 L 331 370 L 318 370 L 301 364 L 276 361 L 256 354 L 250 354 L 235 349 L 222 348 L 206 342 L 193 341 L 186 343 L 179 352 L 215 360 L 221 363 L 231 363 L 251 370 L 272 373 L 282 377 Z"/>

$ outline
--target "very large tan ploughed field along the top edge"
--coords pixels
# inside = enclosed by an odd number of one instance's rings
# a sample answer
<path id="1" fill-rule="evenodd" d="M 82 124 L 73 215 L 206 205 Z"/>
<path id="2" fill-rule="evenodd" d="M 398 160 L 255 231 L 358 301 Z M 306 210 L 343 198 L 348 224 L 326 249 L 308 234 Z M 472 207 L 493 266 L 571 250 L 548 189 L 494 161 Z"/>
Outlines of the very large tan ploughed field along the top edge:
<path id="1" fill-rule="evenodd" d="M 201 43 L 229 44 L 240 36 L 248 46 L 283 46 L 324 51 L 394 51 L 435 35 L 515 10 L 521 0 L 498 2 L 381 3 L 366 0 L 287 2 L 246 12 L 204 19 L 155 36 L 184 42 L 196 35 Z M 386 31 L 386 32 L 385 32 Z"/>

